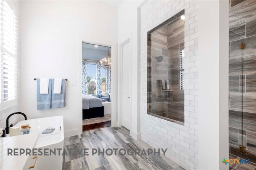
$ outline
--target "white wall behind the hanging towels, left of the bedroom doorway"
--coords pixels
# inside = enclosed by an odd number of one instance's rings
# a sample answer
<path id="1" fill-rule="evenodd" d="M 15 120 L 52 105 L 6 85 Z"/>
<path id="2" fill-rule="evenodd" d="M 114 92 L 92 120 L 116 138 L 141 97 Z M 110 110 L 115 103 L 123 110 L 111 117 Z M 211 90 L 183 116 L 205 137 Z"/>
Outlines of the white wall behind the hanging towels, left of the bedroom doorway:
<path id="1" fill-rule="evenodd" d="M 28 119 L 64 115 L 65 136 L 82 133 L 82 108 L 78 108 L 82 85 L 71 85 L 82 75 L 78 72 L 82 43 L 78 42 L 81 37 L 117 42 L 118 9 L 100 1 L 24 0 L 20 16 L 20 111 Z M 33 78 L 40 77 L 68 78 L 66 107 L 36 109 Z"/>

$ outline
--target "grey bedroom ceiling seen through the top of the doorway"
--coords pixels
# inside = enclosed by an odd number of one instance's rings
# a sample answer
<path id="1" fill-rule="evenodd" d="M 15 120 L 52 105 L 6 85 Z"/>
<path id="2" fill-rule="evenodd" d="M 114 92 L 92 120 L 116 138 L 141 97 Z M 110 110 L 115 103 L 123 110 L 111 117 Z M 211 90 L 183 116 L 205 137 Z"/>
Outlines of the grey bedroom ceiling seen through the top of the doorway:
<path id="1" fill-rule="evenodd" d="M 94 44 L 83 43 L 83 59 L 100 61 L 107 57 L 108 50 L 111 51 L 110 47 L 98 45 L 95 47 Z M 111 52 L 110 52 L 111 57 Z"/>

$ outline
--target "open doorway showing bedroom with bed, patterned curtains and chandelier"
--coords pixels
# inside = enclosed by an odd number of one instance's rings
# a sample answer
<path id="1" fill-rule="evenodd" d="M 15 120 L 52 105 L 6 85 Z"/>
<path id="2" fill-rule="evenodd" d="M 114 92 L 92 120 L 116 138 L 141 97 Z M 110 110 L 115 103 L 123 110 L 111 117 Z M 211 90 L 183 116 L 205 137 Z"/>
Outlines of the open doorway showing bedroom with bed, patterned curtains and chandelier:
<path id="1" fill-rule="evenodd" d="M 111 47 L 82 43 L 83 131 L 111 125 Z"/>

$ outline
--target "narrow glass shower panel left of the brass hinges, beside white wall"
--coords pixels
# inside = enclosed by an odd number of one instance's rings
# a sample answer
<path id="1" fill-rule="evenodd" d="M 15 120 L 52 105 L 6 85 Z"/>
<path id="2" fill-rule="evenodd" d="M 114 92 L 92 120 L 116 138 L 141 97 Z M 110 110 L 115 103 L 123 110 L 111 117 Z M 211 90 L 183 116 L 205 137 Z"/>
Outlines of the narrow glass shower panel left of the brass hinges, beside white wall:
<path id="1" fill-rule="evenodd" d="M 230 34 L 233 33 L 230 31 Z M 239 157 L 242 157 L 240 149 L 245 144 L 242 121 L 243 93 L 245 90 L 243 49 L 241 48 L 243 43 L 243 39 L 229 43 L 229 145 L 230 153 Z M 234 159 L 234 156 L 230 156 L 230 159 Z"/>

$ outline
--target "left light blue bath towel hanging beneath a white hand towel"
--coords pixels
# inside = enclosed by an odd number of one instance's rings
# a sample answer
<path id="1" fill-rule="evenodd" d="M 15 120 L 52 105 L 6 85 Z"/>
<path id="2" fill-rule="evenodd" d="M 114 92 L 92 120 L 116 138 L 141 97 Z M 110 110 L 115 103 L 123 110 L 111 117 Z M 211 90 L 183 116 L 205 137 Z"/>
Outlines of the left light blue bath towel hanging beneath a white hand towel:
<path id="1" fill-rule="evenodd" d="M 40 94 L 40 78 L 37 79 L 37 109 L 48 110 L 51 108 L 52 100 L 52 81 L 49 80 L 48 94 Z"/>

